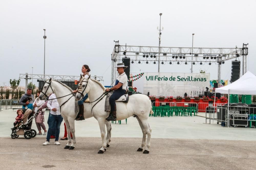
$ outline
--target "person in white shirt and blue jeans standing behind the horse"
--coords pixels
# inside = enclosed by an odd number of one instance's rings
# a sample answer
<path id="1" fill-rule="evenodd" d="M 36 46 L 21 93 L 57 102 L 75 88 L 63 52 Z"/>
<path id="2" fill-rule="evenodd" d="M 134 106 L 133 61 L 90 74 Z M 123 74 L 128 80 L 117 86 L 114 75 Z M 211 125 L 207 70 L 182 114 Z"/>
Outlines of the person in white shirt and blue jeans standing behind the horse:
<path id="1" fill-rule="evenodd" d="M 48 133 L 46 137 L 46 142 L 44 142 L 43 145 L 49 145 L 50 136 L 54 127 L 56 127 L 54 144 L 60 145 L 58 140 L 60 135 L 60 124 L 63 121 L 63 117 L 60 114 L 60 105 L 54 93 L 50 95 L 47 102 L 47 107 L 51 110 L 51 112 L 49 114 L 49 128 L 48 128 Z"/>

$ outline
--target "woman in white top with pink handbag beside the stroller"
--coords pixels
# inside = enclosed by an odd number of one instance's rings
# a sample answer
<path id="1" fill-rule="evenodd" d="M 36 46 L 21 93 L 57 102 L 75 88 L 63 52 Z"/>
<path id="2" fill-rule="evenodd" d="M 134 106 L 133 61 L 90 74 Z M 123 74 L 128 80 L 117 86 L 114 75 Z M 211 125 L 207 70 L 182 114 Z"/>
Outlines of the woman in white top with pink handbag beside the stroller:
<path id="1" fill-rule="evenodd" d="M 39 99 L 39 94 L 41 93 L 41 90 L 37 91 L 37 98 L 35 99 L 33 106 L 34 106 L 34 111 L 36 112 L 40 107 L 45 103 L 44 100 Z M 46 135 L 47 130 L 44 124 L 44 114 L 45 114 L 45 109 L 42 109 L 39 111 L 38 115 L 35 116 L 35 121 L 36 121 L 36 127 L 38 129 L 38 133 L 36 135 Z M 41 127 L 45 131 L 44 134 L 41 132 Z"/>

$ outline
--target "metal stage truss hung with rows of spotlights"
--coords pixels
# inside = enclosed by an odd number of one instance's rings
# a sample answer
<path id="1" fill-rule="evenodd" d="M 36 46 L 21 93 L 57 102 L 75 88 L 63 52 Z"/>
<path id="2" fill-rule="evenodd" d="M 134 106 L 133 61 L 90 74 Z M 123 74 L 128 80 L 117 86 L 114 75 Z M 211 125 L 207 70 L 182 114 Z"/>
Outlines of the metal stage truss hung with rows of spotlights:
<path id="1" fill-rule="evenodd" d="M 242 74 L 247 71 L 247 55 L 248 44 L 243 44 L 242 48 L 197 48 L 197 47 L 154 47 L 154 46 L 130 46 L 120 45 L 119 41 L 114 41 L 113 49 L 111 82 L 116 79 L 116 61 L 122 61 L 123 57 L 129 57 L 131 61 L 140 61 L 157 64 L 158 62 L 172 62 L 172 64 L 199 64 L 206 62 L 207 64 L 217 62 L 218 64 L 218 82 L 220 82 L 221 63 L 243 57 Z M 148 55 L 148 57 L 147 57 Z M 144 56 L 144 57 L 143 57 Z M 220 84 L 219 84 L 220 86 Z"/>

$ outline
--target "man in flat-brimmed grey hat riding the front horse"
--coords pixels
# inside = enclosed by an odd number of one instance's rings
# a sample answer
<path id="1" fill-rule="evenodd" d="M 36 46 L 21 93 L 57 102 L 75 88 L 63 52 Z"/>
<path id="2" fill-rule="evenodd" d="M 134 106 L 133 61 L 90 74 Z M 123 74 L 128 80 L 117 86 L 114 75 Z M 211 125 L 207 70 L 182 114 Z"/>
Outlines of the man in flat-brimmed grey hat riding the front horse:
<path id="1" fill-rule="evenodd" d="M 109 103 L 111 111 L 109 117 L 106 118 L 108 121 L 116 120 L 116 105 L 115 100 L 119 99 L 122 95 L 125 94 L 127 88 L 127 75 L 124 72 L 124 69 L 127 67 L 124 66 L 124 63 L 117 64 L 117 71 L 119 76 L 116 78 L 115 85 L 112 88 L 106 89 L 106 91 L 114 91 L 114 93 L 109 98 Z"/>

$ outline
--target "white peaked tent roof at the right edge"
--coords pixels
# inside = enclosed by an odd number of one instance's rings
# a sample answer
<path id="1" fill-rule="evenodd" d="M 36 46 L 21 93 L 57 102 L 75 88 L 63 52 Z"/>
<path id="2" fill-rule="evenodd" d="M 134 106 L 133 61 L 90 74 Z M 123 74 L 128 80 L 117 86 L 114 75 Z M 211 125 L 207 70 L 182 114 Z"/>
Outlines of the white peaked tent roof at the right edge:
<path id="1" fill-rule="evenodd" d="M 247 71 L 237 81 L 220 88 L 215 89 L 216 93 L 238 94 L 238 95 L 256 95 L 256 76 Z"/>

